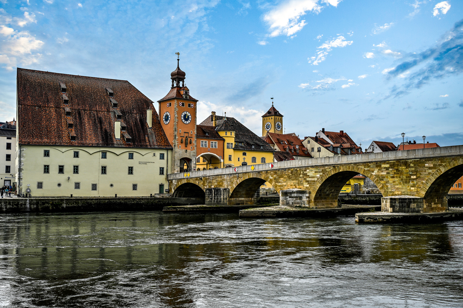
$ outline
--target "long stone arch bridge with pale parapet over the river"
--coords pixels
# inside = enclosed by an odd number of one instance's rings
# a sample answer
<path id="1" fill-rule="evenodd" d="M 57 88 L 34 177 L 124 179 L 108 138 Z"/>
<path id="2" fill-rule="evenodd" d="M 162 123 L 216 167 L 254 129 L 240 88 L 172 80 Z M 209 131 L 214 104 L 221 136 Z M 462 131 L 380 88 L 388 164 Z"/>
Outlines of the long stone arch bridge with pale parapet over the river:
<path id="1" fill-rule="evenodd" d="M 463 145 L 248 164 L 167 178 L 174 197 L 202 199 L 206 204 L 252 204 L 257 189 L 267 181 L 277 192 L 307 190 L 312 208 L 333 208 L 344 184 L 359 173 L 369 177 L 384 197 L 421 197 L 421 211 L 446 211 L 447 193 L 463 175 Z"/>

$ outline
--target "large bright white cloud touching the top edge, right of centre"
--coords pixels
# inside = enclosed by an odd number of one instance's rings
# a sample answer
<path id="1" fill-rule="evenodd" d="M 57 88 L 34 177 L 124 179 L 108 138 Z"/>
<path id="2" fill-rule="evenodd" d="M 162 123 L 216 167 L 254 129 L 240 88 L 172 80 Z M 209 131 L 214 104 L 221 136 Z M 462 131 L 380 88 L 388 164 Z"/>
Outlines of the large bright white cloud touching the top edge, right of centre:
<path id="1" fill-rule="evenodd" d="M 323 6 L 318 4 L 319 0 L 288 0 L 267 12 L 263 20 L 269 25 L 269 36 L 280 35 L 292 36 L 300 31 L 307 23 L 300 18 L 307 12 L 318 14 Z M 338 6 L 339 0 L 322 0 L 332 6 Z"/>

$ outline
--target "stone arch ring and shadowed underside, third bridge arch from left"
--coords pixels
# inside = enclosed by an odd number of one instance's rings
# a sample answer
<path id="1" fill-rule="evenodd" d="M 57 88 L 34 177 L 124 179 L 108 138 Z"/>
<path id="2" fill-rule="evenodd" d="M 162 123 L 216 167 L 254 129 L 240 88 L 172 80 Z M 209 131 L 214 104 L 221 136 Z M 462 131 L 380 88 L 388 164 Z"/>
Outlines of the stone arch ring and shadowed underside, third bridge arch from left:
<path id="1" fill-rule="evenodd" d="M 355 165 L 342 165 L 328 170 L 316 181 L 312 191 L 313 197 L 311 197 L 313 205 L 315 207 L 338 207 L 338 195 L 344 184 L 359 173 L 375 183 L 383 196 L 388 195 L 386 187 L 370 171 Z"/>

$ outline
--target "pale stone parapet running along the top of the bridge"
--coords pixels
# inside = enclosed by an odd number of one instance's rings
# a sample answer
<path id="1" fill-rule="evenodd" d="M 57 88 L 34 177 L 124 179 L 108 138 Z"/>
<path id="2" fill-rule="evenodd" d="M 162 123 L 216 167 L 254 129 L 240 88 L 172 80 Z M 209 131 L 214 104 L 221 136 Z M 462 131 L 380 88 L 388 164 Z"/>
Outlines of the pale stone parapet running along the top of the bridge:
<path id="1" fill-rule="evenodd" d="M 256 163 L 247 166 L 239 166 L 232 168 L 209 169 L 200 171 L 188 171 L 182 173 L 171 173 L 167 175 L 168 180 L 176 180 L 183 178 L 194 178 L 214 175 L 227 175 L 245 172 L 258 172 L 272 169 L 286 169 L 298 167 L 311 167 L 323 165 L 337 165 L 346 163 L 367 163 L 367 162 L 382 162 L 399 159 L 415 159 L 428 157 L 444 157 L 463 155 L 463 145 L 443 146 L 438 148 L 405 150 L 405 151 L 390 151 L 381 153 L 357 154 L 357 155 L 342 155 L 320 158 L 306 158 L 282 161 L 276 163 Z"/>

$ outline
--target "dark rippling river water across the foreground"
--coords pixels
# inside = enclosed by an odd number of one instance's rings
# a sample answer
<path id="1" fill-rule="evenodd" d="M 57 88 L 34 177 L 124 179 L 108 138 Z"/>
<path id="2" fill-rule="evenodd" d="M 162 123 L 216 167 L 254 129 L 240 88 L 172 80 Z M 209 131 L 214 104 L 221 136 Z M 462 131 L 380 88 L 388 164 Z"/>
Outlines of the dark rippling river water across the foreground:
<path id="1" fill-rule="evenodd" d="M 0 306 L 463 306 L 463 222 L 159 211 L 0 217 Z"/>

